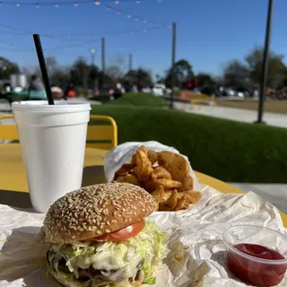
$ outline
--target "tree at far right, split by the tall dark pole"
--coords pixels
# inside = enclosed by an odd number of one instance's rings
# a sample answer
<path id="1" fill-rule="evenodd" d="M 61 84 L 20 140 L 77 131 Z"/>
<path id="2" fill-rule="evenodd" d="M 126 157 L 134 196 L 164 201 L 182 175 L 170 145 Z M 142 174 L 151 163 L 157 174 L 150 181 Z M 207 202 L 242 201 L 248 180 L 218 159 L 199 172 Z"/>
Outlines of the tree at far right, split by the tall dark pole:
<path id="1" fill-rule="evenodd" d="M 264 49 L 254 48 L 245 57 L 248 64 L 250 80 L 253 84 L 259 85 L 262 78 L 262 64 L 263 64 Z M 275 54 L 270 51 L 268 61 L 268 76 L 266 84 L 270 88 L 278 88 L 283 85 L 287 75 L 287 67 L 283 63 L 283 55 Z"/>

